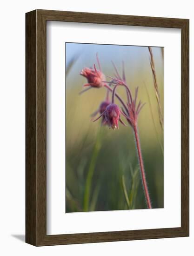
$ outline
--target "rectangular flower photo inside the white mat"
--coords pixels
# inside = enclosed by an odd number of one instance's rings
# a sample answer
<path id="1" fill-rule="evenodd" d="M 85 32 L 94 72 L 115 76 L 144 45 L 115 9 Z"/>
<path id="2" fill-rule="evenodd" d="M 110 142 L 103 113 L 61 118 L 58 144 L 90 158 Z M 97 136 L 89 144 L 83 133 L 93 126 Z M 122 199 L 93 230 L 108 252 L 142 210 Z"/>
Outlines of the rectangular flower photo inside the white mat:
<path id="1" fill-rule="evenodd" d="M 64 47 L 65 212 L 164 208 L 164 47 Z"/>

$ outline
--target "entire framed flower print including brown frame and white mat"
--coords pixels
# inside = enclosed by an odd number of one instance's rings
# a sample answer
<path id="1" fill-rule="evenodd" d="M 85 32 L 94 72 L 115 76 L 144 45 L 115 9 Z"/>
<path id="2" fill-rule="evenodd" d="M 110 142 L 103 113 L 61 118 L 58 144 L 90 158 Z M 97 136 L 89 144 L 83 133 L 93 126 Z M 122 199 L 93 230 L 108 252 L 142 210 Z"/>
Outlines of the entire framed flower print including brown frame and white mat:
<path id="1" fill-rule="evenodd" d="M 26 242 L 189 236 L 189 20 L 26 13 Z"/>

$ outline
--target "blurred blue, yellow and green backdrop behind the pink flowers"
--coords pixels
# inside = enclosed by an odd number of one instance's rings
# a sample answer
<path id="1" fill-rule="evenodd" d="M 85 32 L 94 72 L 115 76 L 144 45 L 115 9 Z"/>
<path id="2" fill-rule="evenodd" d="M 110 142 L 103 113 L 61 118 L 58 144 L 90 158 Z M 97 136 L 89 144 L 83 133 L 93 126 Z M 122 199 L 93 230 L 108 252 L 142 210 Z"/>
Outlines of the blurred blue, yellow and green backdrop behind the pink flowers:
<path id="1" fill-rule="evenodd" d="M 152 47 L 163 115 L 163 48 Z M 148 47 L 66 43 L 66 212 L 147 208 L 140 180 L 132 128 L 119 130 L 91 121 L 105 99 L 106 88 L 79 95 L 87 80 L 84 67 L 97 66 L 114 76 L 125 63 L 127 85 L 146 102 L 139 115 L 139 135 L 153 208 L 163 208 L 163 131 L 159 122 Z M 107 77 L 107 81 L 110 81 Z M 126 101 L 125 90 L 117 92 Z M 115 103 L 120 102 L 115 98 Z M 122 117 L 122 120 L 127 121 Z M 127 205 L 127 198 L 130 205 Z"/>

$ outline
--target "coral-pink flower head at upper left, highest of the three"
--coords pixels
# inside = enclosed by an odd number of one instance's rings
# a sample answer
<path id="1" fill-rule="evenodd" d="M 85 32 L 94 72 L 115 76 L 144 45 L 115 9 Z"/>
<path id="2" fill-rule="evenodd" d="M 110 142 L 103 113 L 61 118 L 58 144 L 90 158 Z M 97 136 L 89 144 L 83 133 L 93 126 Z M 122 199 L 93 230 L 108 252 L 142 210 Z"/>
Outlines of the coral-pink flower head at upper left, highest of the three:
<path id="1" fill-rule="evenodd" d="M 94 66 L 94 69 L 85 67 L 81 70 L 80 75 L 83 75 L 87 78 L 87 84 L 84 86 L 91 86 L 94 88 L 100 88 L 104 86 L 104 83 L 102 81 L 105 81 L 105 75 L 97 70 Z"/>

